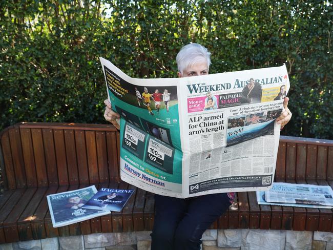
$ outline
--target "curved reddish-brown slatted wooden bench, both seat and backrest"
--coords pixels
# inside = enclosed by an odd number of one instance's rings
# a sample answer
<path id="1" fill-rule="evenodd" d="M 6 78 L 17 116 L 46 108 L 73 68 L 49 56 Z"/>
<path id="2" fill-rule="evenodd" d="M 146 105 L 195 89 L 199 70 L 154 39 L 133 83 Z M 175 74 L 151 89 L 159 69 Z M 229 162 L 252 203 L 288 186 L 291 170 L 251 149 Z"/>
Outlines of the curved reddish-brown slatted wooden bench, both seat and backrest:
<path id="1" fill-rule="evenodd" d="M 153 194 L 119 178 L 119 133 L 111 125 L 18 123 L 0 133 L 5 191 L 0 194 L 0 244 L 92 233 L 150 231 Z M 281 136 L 276 180 L 333 185 L 333 141 Z M 135 189 L 122 212 L 52 227 L 46 195 L 95 184 Z M 255 192 L 211 228 L 333 232 L 330 209 L 258 205 Z"/>

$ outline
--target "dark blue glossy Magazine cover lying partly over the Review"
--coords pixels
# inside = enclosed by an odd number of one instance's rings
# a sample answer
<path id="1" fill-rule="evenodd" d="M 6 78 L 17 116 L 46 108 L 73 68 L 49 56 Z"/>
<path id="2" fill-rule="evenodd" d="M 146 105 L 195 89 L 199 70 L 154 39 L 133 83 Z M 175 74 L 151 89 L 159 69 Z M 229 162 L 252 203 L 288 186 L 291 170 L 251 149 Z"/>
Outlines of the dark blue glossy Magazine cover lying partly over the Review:
<path id="1" fill-rule="evenodd" d="M 84 209 L 119 212 L 133 194 L 133 189 L 101 188 L 84 206 Z"/>

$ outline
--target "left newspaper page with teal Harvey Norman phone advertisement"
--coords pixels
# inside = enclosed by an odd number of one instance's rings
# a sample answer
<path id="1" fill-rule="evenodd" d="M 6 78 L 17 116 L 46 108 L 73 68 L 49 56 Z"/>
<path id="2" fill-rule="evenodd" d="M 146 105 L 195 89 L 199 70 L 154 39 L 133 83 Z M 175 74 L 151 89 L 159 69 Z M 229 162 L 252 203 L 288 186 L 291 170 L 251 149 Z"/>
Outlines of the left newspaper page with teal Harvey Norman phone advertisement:
<path id="1" fill-rule="evenodd" d="M 136 79 L 100 58 L 112 109 L 120 114 L 121 179 L 182 197 L 177 78 Z"/>

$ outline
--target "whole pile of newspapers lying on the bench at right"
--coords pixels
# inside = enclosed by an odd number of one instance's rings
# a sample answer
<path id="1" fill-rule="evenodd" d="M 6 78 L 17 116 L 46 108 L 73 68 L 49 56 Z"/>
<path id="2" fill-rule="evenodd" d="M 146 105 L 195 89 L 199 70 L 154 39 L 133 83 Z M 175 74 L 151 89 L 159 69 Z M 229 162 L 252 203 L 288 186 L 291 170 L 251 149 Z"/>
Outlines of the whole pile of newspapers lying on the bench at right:
<path id="1" fill-rule="evenodd" d="M 274 182 L 272 189 L 257 191 L 260 205 L 302 206 L 317 209 L 333 208 L 330 186 Z"/>

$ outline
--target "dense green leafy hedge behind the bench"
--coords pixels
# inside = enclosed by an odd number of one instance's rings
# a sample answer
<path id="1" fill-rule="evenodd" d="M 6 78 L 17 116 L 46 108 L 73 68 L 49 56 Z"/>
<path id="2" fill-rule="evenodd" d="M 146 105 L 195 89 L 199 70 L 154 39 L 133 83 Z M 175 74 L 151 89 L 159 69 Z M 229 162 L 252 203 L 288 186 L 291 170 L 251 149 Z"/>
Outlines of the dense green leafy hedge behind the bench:
<path id="1" fill-rule="evenodd" d="M 133 77 L 176 77 L 177 52 L 196 42 L 210 73 L 286 63 L 284 133 L 332 139 L 332 22 L 322 1 L 1 1 L 0 128 L 105 122 L 99 56 Z"/>

